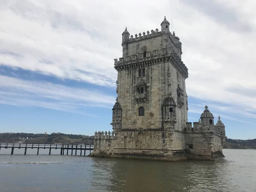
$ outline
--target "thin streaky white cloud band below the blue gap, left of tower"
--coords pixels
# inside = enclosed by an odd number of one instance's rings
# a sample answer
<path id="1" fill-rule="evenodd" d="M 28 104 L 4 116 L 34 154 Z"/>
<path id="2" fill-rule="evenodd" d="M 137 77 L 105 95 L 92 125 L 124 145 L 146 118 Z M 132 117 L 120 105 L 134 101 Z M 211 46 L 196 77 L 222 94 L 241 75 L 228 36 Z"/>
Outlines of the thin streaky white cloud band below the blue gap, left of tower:
<path id="1" fill-rule="evenodd" d="M 35 106 L 93 116 L 86 108 L 111 108 L 113 96 L 99 90 L 83 90 L 48 82 L 0 76 L 0 103 Z"/>

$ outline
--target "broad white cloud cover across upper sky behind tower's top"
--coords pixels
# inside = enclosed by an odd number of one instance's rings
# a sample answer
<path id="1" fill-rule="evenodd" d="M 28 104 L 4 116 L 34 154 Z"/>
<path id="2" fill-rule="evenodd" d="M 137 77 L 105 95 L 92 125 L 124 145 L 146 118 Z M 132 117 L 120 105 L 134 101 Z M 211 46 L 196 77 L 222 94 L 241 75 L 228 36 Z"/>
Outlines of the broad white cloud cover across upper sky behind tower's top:
<path id="1" fill-rule="evenodd" d="M 113 58 L 122 57 L 125 26 L 131 35 L 160 29 L 166 15 L 169 21 L 173 19 L 173 29 L 183 44 L 182 59 L 189 68 L 188 95 L 204 103 L 246 108 L 247 112 L 239 113 L 253 118 L 256 101 L 249 93 L 256 87 L 256 3 L 215 0 L 211 5 L 216 12 L 206 12 L 209 6 L 202 2 L 4 0 L 0 2 L 0 63 L 61 79 L 113 86 Z M 27 91 L 29 87 L 22 83 L 20 90 Z M 11 85 L 4 81 L 2 86 Z M 81 99 L 79 94 L 43 94 L 46 87 L 40 86 L 36 90 L 44 97 L 65 102 Z M 49 87 L 67 92 L 66 87 Z M 247 91 L 234 90 L 241 87 Z"/>

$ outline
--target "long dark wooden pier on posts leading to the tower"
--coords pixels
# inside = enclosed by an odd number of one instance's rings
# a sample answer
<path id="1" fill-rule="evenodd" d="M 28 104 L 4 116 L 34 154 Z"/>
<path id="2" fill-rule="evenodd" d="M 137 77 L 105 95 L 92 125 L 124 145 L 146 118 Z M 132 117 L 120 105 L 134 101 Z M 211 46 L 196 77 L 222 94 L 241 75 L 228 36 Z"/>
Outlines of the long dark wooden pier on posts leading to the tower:
<path id="1" fill-rule="evenodd" d="M 71 150 L 71 155 L 73 155 L 73 150 L 75 150 L 75 155 L 84 155 L 85 151 L 89 151 L 89 154 L 93 152 L 93 145 L 72 145 L 72 144 L 33 144 L 33 143 L 0 143 L 1 148 L 12 148 L 11 154 L 14 153 L 15 148 L 24 148 L 24 155 L 26 155 L 27 148 L 37 148 L 37 154 L 39 154 L 39 149 L 49 149 L 49 155 L 52 149 L 61 149 L 61 155 L 67 154 Z M 79 154 L 77 154 L 77 151 Z"/>

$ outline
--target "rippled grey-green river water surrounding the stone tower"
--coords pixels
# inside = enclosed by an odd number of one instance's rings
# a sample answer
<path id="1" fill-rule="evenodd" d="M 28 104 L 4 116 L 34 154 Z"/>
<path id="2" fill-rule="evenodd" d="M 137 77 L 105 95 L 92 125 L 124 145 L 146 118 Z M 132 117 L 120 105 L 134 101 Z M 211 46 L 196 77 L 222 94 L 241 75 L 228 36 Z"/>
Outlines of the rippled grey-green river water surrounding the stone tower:
<path id="1" fill-rule="evenodd" d="M 256 192 L 256 150 L 223 153 L 182 162 L 0 155 L 0 192 Z"/>

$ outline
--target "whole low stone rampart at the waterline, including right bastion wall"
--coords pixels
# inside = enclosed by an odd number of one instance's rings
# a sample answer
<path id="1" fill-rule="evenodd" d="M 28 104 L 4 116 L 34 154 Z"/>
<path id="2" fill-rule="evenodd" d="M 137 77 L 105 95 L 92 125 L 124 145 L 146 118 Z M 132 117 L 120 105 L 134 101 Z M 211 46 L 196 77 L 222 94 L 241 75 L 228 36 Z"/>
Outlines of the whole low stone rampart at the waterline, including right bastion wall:
<path id="1" fill-rule="evenodd" d="M 224 157 L 221 140 L 214 134 L 186 133 L 164 129 L 98 132 L 91 156 L 151 160 L 215 160 Z M 191 146 L 192 145 L 192 146 Z"/>

